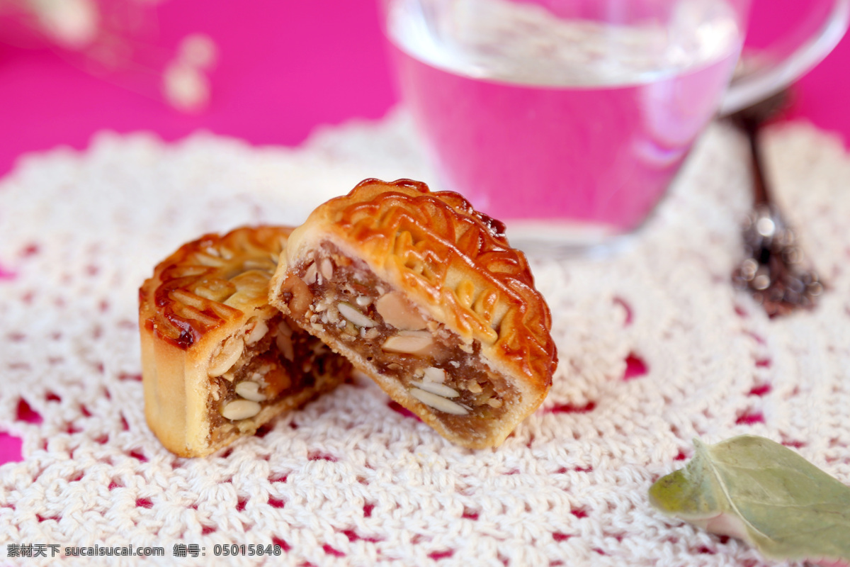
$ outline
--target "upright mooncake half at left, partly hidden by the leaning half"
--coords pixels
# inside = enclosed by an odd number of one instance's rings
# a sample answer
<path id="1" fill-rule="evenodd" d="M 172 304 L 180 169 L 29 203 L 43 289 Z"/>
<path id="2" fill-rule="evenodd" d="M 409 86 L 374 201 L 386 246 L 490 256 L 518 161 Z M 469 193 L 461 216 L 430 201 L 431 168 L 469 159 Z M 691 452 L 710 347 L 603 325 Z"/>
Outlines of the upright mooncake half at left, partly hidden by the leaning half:
<path id="1" fill-rule="evenodd" d="M 334 388 L 350 364 L 269 305 L 288 227 L 205 235 L 139 289 L 144 415 L 179 456 L 204 456 Z"/>

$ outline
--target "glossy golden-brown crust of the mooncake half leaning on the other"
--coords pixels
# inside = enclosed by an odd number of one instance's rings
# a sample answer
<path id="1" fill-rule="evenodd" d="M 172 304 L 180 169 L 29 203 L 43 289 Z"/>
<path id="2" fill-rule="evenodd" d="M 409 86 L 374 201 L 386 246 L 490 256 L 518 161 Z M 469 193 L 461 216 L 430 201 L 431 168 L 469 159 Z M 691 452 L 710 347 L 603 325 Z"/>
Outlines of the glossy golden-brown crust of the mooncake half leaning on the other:
<path id="1" fill-rule="evenodd" d="M 523 394 L 517 422 L 541 403 L 558 363 L 551 315 L 524 254 L 510 247 L 500 222 L 456 193 L 430 192 L 410 179 L 366 179 L 347 196 L 318 207 L 293 231 L 270 286 L 270 301 L 279 309 L 288 309 L 281 289 L 292 287 L 298 264 L 322 243 L 365 261 L 463 343 L 479 345 L 482 360 Z M 356 355 L 346 354 L 382 382 Z M 425 406 L 399 399 L 398 388 L 388 383 L 382 387 L 428 422 Z M 487 443 L 497 445 L 507 433 L 494 432 Z"/>

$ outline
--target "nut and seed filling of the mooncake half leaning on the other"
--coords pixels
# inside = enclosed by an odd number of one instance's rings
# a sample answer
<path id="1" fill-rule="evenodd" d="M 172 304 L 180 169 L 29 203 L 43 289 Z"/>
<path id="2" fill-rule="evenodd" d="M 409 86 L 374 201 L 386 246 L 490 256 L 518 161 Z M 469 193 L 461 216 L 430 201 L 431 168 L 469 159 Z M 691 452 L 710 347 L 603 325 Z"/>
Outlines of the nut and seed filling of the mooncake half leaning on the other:
<path id="1" fill-rule="evenodd" d="M 481 362 L 479 343 L 462 343 L 364 262 L 329 243 L 313 254 L 296 270 L 297 281 L 284 286 L 292 316 L 348 343 L 413 398 L 445 414 L 447 425 L 498 418 L 519 395 Z"/>

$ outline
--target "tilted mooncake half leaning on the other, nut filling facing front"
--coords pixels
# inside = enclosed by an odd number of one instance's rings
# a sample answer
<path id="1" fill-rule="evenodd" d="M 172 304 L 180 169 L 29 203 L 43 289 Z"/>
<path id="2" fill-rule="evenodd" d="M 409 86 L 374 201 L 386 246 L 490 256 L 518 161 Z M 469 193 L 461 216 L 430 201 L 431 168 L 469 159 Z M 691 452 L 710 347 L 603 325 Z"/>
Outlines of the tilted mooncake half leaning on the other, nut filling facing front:
<path id="1" fill-rule="evenodd" d="M 551 316 L 524 254 L 456 193 L 363 181 L 292 232 L 269 291 L 458 445 L 501 445 L 552 384 Z"/>

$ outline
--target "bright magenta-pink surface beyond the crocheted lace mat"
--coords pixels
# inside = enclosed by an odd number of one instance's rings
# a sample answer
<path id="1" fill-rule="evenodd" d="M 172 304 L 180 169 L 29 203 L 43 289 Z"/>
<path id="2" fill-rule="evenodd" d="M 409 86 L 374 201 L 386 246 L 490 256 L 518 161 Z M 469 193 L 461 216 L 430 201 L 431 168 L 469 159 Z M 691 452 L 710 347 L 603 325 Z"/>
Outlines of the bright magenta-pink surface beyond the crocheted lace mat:
<path id="1" fill-rule="evenodd" d="M 806 4 L 754 0 L 751 42 L 791 25 Z M 173 50 L 191 32 L 218 44 L 207 111 L 181 114 L 156 96 L 81 71 L 49 48 L 0 43 L 0 175 L 22 154 L 57 145 L 82 149 L 102 129 L 150 130 L 172 140 L 202 128 L 258 145 L 297 145 L 316 125 L 379 118 L 398 101 L 375 0 L 167 0 L 154 14 L 158 31 L 150 39 L 159 48 Z M 845 38 L 799 82 L 789 115 L 841 133 L 847 143 L 848 71 Z M 145 88 L 155 95 L 155 79 Z M 9 330 L 0 323 L 0 332 Z M 37 421 L 20 408 L 16 417 Z M 20 441 L 0 433 L 0 463 L 17 459 Z"/>

